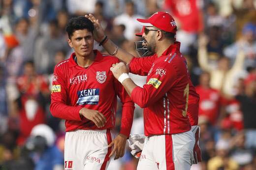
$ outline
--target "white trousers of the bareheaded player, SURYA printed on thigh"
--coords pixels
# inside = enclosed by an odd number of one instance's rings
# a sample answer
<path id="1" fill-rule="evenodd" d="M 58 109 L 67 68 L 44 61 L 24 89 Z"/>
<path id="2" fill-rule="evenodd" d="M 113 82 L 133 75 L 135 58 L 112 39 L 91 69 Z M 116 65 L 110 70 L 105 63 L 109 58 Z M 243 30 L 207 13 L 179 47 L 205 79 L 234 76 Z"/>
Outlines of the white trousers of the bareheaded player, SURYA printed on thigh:
<path id="1" fill-rule="evenodd" d="M 106 170 L 113 136 L 106 130 L 66 132 L 64 146 L 65 170 Z"/>

